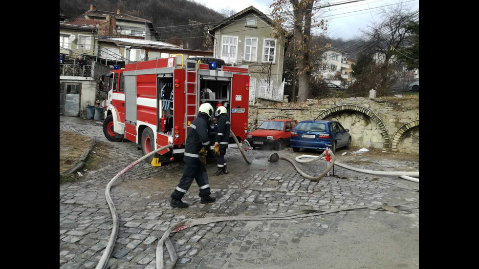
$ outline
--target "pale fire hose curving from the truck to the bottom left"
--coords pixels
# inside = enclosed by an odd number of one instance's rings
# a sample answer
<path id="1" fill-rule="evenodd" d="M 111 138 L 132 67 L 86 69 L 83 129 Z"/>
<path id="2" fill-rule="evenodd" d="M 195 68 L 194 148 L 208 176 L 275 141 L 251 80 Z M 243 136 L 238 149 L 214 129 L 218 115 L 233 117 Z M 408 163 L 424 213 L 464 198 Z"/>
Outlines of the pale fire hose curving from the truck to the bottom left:
<path id="1" fill-rule="evenodd" d="M 116 242 L 116 237 L 118 236 L 118 214 L 116 213 L 116 208 L 115 208 L 115 205 L 113 204 L 113 201 L 111 200 L 111 196 L 110 196 L 110 188 L 111 186 L 113 185 L 113 183 L 115 183 L 115 181 L 121 176 L 123 175 L 125 172 L 127 172 L 128 170 L 130 170 L 133 166 L 136 166 L 137 164 L 139 164 L 141 161 L 145 160 L 146 158 L 152 156 L 153 154 L 155 154 L 156 152 L 159 152 L 161 150 L 164 150 L 164 149 L 167 149 L 169 147 L 172 147 L 173 145 L 165 145 L 165 146 L 162 146 L 158 149 L 155 149 L 153 150 L 152 152 L 148 153 L 147 155 L 141 157 L 140 159 L 134 161 L 133 163 L 131 163 L 131 165 L 127 166 L 125 169 L 121 170 L 118 174 L 116 174 L 115 177 L 113 177 L 110 182 L 108 183 L 107 185 L 107 188 L 105 189 L 105 197 L 107 198 L 107 203 L 108 203 L 108 207 L 110 208 L 110 211 L 111 211 L 111 218 L 113 219 L 113 227 L 111 228 L 111 234 L 110 234 L 110 238 L 108 240 L 108 244 L 107 244 L 107 247 L 105 248 L 105 250 L 103 251 L 103 255 L 102 257 L 100 258 L 100 261 L 98 262 L 98 264 L 96 265 L 95 269 L 105 269 L 105 267 L 107 266 L 107 262 L 108 262 L 108 259 L 111 255 L 111 252 L 113 251 L 113 247 L 115 246 L 115 242 Z"/>

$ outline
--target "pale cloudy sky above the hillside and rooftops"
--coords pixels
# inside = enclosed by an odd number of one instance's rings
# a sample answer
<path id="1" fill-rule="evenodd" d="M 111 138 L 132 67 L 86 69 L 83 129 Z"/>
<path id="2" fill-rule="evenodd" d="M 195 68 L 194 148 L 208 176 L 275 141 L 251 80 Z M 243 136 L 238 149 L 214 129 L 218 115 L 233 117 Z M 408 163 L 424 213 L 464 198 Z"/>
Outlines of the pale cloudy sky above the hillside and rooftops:
<path id="1" fill-rule="evenodd" d="M 273 0 L 195 0 L 196 2 L 203 3 L 207 7 L 218 10 L 221 8 L 231 8 L 237 12 L 252 5 L 258 8 L 266 15 L 271 14 L 269 5 Z M 319 1 L 319 4 L 334 4 L 337 2 L 344 2 L 345 0 L 329 0 Z M 372 25 L 373 17 L 374 21 L 378 23 L 381 21 L 378 12 L 381 10 L 380 6 L 386 6 L 385 8 L 397 6 L 397 3 L 403 2 L 403 5 L 409 6 L 411 10 L 417 10 L 419 8 L 419 0 L 364 0 L 355 3 L 343 4 L 330 7 L 325 19 L 328 20 L 327 34 L 332 38 L 343 38 L 344 40 L 361 36 L 361 29 L 365 29 L 368 24 Z M 368 6 L 369 3 L 369 6 Z M 394 4 L 394 5 L 391 5 Z M 315 4 L 316 5 L 316 4 Z M 370 8 L 370 11 L 368 10 Z M 362 11 L 360 11 L 362 10 Z M 352 12 L 352 13 L 348 13 Z M 372 16 L 371 16 L 371 13 Z M 345 14 L 346 13 L 346 14 Z"/>

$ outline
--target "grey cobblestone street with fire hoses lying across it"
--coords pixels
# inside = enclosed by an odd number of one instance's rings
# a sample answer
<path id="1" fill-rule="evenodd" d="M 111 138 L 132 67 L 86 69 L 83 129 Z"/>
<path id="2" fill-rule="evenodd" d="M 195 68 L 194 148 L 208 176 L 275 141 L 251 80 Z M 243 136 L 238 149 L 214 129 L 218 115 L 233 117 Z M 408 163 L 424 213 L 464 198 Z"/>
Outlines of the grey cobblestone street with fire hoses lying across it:
<path id="1" fill-rule="evenodd" d="M 99 168 L 81 171 L 83 178 L 60 185 L 60 268 L 95 268 L 107 246 L 112 218 L 105 187 L 121 169 L 142 156 L 129 141 L 109 142 L 102 124 L 60 117 L 60 130 L 91 137 L 106 145 L 108 159 Z M 95 149 L 94 149 L 95 150 Z M 193 183 L 183 201 L 190 207 L 170 207 L 178 184 L 180 157 L 162 167 L 142 162 L 122 175 L 111 188 L 119 216 L 118 239 L 109 259 L 111 269 L 154 269 L 155 248 L 163 232 L 185 218 L 278 214 L 297 209 L 330 209 L 390 205 L 418 201 L 419 192 L 383 185 L 367 174 L 335 166 L 335 174 L 312 182 L 286 161 L 268 163 L 267 149 L 246 152 L 255 158 L 247 165 L 238 149 L 228 149 L 230 174 L 213 176 L 216 161 L 207 170 L 213 204 L 200 204 Z M 338 160 L 341 160 L 341 152 Z M 293 158 L 313 151 L 278 152 Z M 414 166 L 392 163 L 392 166 Z M 318 175 L 326 162 L 300 164 L 305 173 Z M 354 165 L 370 168 L 368 165 Z M 384 170 L 388 170 L 385 167 Z M 418 163 L 415 169 L 418 169 Z M 417 183 L 383 176 L 408 186 Z M 414 204 L 411 206 L 418 206 Z M 178 254 L 175 268 L 415 268 L 419 266 L 419 209 L 410 214 L 389 211 L 343 211 L 283 221 L 231 221 L 187 228 L 173 233 Z M 166 249 L 166 248 L 165 248 Z M 166 251 L 165 262 L 169 260 Z"/>

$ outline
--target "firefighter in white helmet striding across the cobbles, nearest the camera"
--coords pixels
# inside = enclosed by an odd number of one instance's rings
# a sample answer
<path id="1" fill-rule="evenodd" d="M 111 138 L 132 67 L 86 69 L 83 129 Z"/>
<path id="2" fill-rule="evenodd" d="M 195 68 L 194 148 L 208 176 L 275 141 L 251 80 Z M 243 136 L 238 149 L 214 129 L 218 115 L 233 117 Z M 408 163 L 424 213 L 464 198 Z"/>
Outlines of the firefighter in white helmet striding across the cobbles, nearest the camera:
<path id="1" fill-rule="evenodd" d="M 186 163 L 183 169 L 183 176 L 178 186 L 171 195 L 172 207 L 188 207 L 188 204 L 181 201 L 181 198 L 190 188 L 193 179 L 199 186 L 199 197 L 201 204 L 213 203 L 216 198 L 210 196 L 210 186 L 208 185 L 208 174 L 206 167 L 199 160 L 201 148 L 210 146 L 208 137 L 209 121 L 213 115 L 213 106 L 209 103 L 203 103 L 199 106 L 199 113 L 196 119 L 190 124 L 190 129 L 186 137 L 185 156 L 183 161 Z"/>

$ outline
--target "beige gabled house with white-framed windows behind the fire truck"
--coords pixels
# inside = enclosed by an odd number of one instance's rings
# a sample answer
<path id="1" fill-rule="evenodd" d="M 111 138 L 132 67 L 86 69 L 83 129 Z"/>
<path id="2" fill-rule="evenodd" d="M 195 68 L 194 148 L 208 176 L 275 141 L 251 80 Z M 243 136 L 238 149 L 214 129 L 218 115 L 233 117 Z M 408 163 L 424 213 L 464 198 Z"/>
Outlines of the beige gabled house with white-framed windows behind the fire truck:
<path id="1" fill-rule="evenodd" d="M 278 87 L 283 83 L 284 39 L 273 38 L 272 31 L 273 21 L 257 8 L 241 10 L 210 29 L 215 58 L 232 65 L 248 65 L 250 88 L 260 82 Z M 282 101 L 282 94 L 273 97 Z"/>

